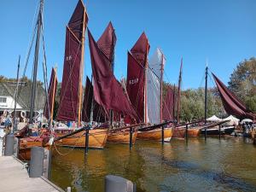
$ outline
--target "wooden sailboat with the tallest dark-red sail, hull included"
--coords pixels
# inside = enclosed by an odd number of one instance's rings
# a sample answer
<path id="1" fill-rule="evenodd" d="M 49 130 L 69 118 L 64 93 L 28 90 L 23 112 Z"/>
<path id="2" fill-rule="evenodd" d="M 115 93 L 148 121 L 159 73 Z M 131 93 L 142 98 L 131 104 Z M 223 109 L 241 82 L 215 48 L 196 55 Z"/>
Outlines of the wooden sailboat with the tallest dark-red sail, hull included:
<path id="1" fill-rule="evenodd" d="M 84 3 L 79 0 L 71 19 L 66 27 L 66 47 L 64 67 L 61 83 L 60 106 L 57 112 L 58 121 L 76 121 L 74 129 L 55 127 L 57 137 L 65 136 L 81 128 L 81 107 L 83 96 L 83 69 L 84 69 L 84 32 L 88 23 L 88 15 Z M 59 146 L 84 147 L 85 132 L 81 131 L 71 137 L 56 142 Z M 104 148 L 108 130 L 90 130 L 89 147 Z"/>

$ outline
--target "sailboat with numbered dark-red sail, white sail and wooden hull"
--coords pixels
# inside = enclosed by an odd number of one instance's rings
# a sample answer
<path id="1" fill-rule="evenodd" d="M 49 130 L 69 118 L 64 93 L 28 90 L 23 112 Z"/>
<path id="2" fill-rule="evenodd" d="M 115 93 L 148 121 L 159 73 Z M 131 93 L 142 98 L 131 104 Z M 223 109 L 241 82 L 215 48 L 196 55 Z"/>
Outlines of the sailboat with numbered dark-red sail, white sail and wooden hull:
<path id="1" fill-rule="evenodd" d="M 148 38 L 143 34 L 128 52 L 126 90 L 133 108 L 136 109 L 136 123 L 146 127 L 137 133 L 138 139 L 160 141 L 162 130 L 162 80 L 166 62 L 160 49 L 156 49 L 148 65 Z M 148 67 L 149 66 L 149 67 Z M 147 128 L 147 126 L 151 126 Z M 172 128 L 164 130 L 166 141 L 172 138 Z"/>

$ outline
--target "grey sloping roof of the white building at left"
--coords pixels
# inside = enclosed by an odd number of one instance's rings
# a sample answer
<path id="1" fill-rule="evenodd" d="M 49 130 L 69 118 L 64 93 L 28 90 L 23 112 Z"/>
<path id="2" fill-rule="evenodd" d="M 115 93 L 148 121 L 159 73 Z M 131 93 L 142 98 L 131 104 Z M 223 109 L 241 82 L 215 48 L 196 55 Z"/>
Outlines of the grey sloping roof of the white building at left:
<path id="1" fill-rule="evenodd" d="M 42 83 L 38 83 L 38 91 L 35 99 L 35 110 L 44 109 L 45 92 Z M 16 84 L 14 82 L 0 82 L 0 96 L 12 96 L 15 98 Z M 29 110 L 31 103 L 32 82 L 27 81 L 25 86 L 19 86 L 20 95 L 17 102 L 21 108 Z"/>

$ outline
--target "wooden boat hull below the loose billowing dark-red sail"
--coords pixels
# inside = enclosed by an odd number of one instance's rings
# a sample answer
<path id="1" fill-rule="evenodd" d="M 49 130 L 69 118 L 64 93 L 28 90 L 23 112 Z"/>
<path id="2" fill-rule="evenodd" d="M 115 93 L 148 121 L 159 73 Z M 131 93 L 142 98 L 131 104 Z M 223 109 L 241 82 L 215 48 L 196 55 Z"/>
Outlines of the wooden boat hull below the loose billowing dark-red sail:
<path id="1" fill-rule="evenodd" d="M 137 131 L 132 133 L 132 143 L 134 144 L 137 139 Z M 130 143 L 130 131 L 129 129 L 120 130 L 120 131 L 109 131 L 108 132 L 108 143 L 121 143 L 129 144 Z"/>

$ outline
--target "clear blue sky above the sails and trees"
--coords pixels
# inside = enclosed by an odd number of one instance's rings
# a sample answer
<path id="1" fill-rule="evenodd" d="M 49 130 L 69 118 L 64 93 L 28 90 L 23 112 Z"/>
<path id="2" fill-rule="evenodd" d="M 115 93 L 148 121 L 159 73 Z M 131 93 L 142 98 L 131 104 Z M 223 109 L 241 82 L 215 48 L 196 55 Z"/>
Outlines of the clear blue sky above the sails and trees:
<path id="1" fill-rule="evenodd" d="M 76 3 L 77 0 L 44 0 L 48 72 L 56 63 L 59 81 L 63 70 L 65 26 Z M 226 84 L 240 61 L 256 56 L 255 0 L 89 0 L 84 3 L 94 38 L 100 37 L 109 20 L 113 22 L 118 38 L 114 71 L 117 79 L 126 76 L 127 50 L 143 31 L 151 46 L 149 57 L 156 47 L 166 55 L 164 79 L 167 82 L 177 84 L 183 56 L 183 89 L 203 85 L 206 61 Z M 21 55 L 20 71 L 23 71 L 37 6 L 38 0 L 0 1 L 0 74 L 15 78 L 18 55 Z M 84 73 L 90 76 L 89 53 L 86 41 Z M 39 66 L 38 78 L 43 80 L 42 61 Z M 31 74 L 32 57 L 26 75 L 31 77 Z M 211 81 L 209 85 L 213 85 Z"/>

